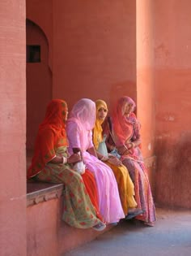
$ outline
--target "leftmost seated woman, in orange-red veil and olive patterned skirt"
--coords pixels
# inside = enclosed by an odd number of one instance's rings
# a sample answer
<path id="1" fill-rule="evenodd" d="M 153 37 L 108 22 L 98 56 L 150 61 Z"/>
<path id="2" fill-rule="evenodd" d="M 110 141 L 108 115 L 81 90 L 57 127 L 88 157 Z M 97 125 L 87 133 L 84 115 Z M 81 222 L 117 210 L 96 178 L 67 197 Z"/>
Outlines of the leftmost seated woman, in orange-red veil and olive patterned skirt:
<path id="1" fill-rule="evenodd" d="M 79 154 L 67 152 L 66 119 L 68 108 L 65 101 L 49 102 L 45 119 L 36 137 L 32 165 L 28 179 L 65 184 L 62 219 L 74 228 L 105 228 L 98 210 L 96 182 L 90 171 L 83 175 L 72 169 L 81 161 Z"/>

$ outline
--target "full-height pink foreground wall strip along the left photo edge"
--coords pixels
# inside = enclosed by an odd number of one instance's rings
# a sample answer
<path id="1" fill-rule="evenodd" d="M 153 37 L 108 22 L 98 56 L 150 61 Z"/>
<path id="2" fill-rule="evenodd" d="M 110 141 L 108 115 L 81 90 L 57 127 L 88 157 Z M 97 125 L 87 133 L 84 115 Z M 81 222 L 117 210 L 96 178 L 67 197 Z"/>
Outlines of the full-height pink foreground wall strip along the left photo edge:
<path id="1" fill-rule="evenodd" d="M 0 24 L 0 248 L 25 256 L 25 1 L 1 1 Z"/>

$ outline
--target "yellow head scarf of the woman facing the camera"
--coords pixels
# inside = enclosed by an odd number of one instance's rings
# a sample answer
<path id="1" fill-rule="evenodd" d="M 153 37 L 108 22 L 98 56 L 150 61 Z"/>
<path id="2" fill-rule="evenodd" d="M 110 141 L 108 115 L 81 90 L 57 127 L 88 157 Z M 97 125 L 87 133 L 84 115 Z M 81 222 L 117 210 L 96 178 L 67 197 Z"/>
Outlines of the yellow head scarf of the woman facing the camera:
<path id="1" fill-rule="evenodd" d="M 104 120 L 98 119 L 98 111 L 100 110 L 101 107 L 103 107 L 105 110 L 108 111 L 108 106 L 106 102 L 99 99 L 96 101 L 96 124 L 93 129 L 93 142 L 96 150 L 98 149 L 99 143 L 103 141 L 103 134 L 102 134 L 103 129 L 101 127 L 101 124 L 103 124 Z"/>

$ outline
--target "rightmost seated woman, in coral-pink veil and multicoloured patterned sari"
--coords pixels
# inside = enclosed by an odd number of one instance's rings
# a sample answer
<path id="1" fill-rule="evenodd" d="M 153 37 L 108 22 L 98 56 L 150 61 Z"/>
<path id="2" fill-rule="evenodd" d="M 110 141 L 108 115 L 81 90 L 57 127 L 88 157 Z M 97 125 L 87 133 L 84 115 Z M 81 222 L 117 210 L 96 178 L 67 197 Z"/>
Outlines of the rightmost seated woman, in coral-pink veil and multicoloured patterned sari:
<path id="1" fill-rule="evenodd" d="M 117 149 L 122 163 L 127 167 L 134 182 L 135 200 L 138 207 L 143 210 L 143 214 L 136 219 L 153 226 L 156 220 L 155 205 L 140 150 L 140 124 L 133 113 L 134 107 L 135 103 L 129 97 L 125 96 L 118 100 L 112 114 L 112 121 L 108 125 L 110 137 L 106 144 L 109 150 Z"/>

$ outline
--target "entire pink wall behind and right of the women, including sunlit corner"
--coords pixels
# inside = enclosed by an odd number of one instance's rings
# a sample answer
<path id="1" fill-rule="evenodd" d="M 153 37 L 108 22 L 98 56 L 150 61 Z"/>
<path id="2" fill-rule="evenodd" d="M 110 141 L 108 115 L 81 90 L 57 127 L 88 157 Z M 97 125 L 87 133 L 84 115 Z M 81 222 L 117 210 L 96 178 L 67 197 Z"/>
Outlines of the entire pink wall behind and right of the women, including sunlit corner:
<path id="1" fill-rule="evenodd" d="M 134 98 L 142 152 L 158 159 L 156 199 L 190 207 L 189 0 L 27 4 L 53 46 L 53 98 L 70 107 L 84 97 L 109 107 L 122 94 Z"/>

